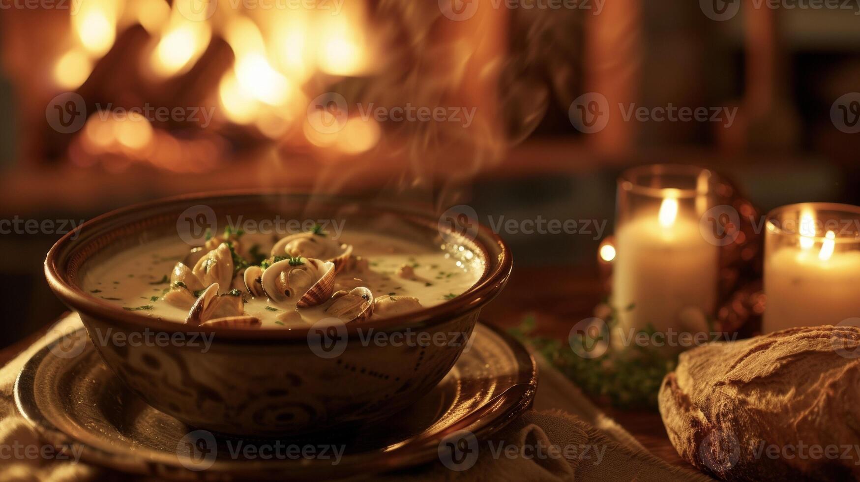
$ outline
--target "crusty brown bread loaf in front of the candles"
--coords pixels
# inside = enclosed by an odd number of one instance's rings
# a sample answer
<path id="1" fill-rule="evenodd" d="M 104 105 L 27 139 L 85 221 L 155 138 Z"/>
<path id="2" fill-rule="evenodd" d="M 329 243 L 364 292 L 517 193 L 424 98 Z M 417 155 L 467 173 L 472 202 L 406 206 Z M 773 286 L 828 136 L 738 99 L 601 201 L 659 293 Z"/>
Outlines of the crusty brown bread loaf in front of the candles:
<path id="1" fill-rule="evenodd" d="M 669 438 L 720 479 L 860 479 L 858 345 L 816 326 L 687 351 L 660 386 Z"/>

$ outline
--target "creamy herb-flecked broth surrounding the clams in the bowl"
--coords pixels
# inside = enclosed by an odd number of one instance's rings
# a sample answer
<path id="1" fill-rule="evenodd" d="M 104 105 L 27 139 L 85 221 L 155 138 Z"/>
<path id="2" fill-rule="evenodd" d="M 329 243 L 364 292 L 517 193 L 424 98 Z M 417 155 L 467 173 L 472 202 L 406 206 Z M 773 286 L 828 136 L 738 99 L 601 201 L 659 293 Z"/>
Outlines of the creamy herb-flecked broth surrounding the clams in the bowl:
<path id="1" fill-rule="evenodd" d="M 276 239 L 270 236 L 245 234 L 240 238 L 243 257 L 249 247 L 255 252 L 269 253 Z M 481 277 L 484 263 L 477 253 L 466 247 L 451 245 L 429 246 L 369 232 L 343 232 L 339 243 L 351 244 L 353 256 L 365 260 L 359 267 L 346 269 L 335 277 L 335 290 L 349 291 L 367 287 L 377 302 L 386 297 L 415 298 L 420 307 L 434 306 L 463 294 Z M 164 299 L 171 287 L 170 275 L 177 262 L 186 260 L 188 246 L 175 239 L 147 243 L 99 263 L 84 275 L 83 288 L 126 310 L 151 318 L 185 323 L 187 306 L 174 306 Z M 271 259 L 271 258 L 270 258 Z M 251 259 L 248 260 L 252 262 Z M 189 267 L 191 268 L 191 267 Z M 237 279 L 241 274 L 237 273 Z M 233 281 L 229 288 L 239 288 L 243 298 L 243 314 L 258 318 L 262 327 L 290 328 L 313 324 L 327 318 L 325 306 L 297 308 L 275 304 L 266 296 L 253 296 L 241 282 Z M 237 293 L 237 292 L 234 292 Z M 195 297 L 199 294 L 194 294 Z M 408 305 L 409 309 L 417 309 Z M 395 313 L 374 310 L 372 319 Z"/>

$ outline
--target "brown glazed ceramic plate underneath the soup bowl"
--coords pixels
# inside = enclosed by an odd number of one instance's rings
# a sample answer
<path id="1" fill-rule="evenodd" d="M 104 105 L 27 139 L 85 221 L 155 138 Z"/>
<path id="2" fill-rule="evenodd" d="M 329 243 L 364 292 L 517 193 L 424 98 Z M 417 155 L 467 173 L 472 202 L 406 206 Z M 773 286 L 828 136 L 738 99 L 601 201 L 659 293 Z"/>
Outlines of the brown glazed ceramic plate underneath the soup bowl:
<path id="1" fill-rule="evenodd" d="M 104 365 L 83 328 L 25 364 L 15 399 L 50 442 L 126 473 L 171 479 L 197 479 L 202 470 L 206 479 L 354 477 L 435 460 L 439 442 L 454 429 L 488 436 L 531 405 L 537 387 L 531 355 L 484 324 L 476 325 L 472 339 L 439 385 L 405 411 L 382 423 L 298 440 L 219 436 L 157 411 Z M 57 355 L 59 343 L 63 353 Z M 315 454 L 297 455 L 293 447 L 313 448 Z M 338 460 L 335 449 L 343 451 Z"/>

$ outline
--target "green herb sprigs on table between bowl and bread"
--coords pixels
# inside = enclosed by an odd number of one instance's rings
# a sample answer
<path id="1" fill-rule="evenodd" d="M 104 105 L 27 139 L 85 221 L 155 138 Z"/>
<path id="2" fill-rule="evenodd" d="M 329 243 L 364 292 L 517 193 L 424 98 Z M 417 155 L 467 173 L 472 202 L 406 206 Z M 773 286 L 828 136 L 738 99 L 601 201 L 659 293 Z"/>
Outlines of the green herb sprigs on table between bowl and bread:
<path id="1" fill-rule="evenodd" d="M 617 312 L 613 311 L 611 318 L 606 320 L 609 334 L 616 319 Z M 583 392 L 606 399 L 618 408 L 657 408 L 660 383 L 678 364 L 677 355 L 660 351 L 660 347 L 637 344 L 617 349 L 610 343 L 603 355 L 584 358 L 571 349 L 568 340 L 535 335 L 536 326 L 535 318 L 527 317 L 519 327 L 509 332 L 531 346 L 535 353 L 544 356 Z M 654 328 L 648 326 L 642 332 L 651 337 Z"/>

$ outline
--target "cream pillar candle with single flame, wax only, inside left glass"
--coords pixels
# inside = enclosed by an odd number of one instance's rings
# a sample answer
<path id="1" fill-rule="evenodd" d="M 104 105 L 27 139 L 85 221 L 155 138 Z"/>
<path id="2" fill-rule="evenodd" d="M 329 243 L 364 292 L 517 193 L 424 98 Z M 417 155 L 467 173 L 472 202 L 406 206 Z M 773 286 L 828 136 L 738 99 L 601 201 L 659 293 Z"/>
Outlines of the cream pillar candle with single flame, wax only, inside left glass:
<path id="1" fill-rule="evenodd" d="M 693 213 L 678 207 L 667 197 L 659 213 L 636 215 L 616 232 L 611 301 L 624 336 L 648 324 L 664 333 L 707 330 L 701 321 L 716 307 L 719 250 L 702 236 Z M 690 326 L 691 318 L 699 323 Z"/>

